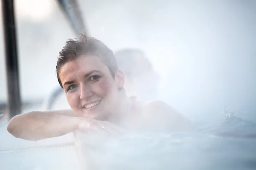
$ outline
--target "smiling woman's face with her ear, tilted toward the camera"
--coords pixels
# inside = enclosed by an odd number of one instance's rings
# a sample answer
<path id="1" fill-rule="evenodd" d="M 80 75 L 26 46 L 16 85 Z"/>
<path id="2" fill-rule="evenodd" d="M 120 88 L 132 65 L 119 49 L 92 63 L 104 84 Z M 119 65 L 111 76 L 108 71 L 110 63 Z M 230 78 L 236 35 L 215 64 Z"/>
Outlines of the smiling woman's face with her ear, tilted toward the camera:
<path id="1" fill-rule="evenodd" d="M 59 77 L 67 101 L 78 116 L 107 120 L 118 105 L 118 88 L 124 84 L 121 71 L 113 79 L 102 60 L 81 56 L 62 66 Z"/>

